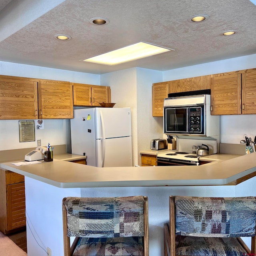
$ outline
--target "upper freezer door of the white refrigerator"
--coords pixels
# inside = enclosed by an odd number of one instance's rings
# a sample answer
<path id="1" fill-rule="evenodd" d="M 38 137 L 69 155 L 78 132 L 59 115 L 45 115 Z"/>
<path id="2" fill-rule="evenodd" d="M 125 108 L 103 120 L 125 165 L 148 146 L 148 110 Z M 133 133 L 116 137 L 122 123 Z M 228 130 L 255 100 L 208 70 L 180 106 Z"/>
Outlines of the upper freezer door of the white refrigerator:
<path id="1" fill-rule="evenodd" d="M 96 139 L 132 135 L 130 108 L 95 108 Z"/>

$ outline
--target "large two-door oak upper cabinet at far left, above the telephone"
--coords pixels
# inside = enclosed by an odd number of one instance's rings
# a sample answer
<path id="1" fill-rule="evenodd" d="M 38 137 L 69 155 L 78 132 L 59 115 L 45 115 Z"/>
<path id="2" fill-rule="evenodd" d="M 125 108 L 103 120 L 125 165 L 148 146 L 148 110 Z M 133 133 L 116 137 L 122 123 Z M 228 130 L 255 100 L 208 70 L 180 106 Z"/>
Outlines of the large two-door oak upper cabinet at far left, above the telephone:
<path id="1" fill-rule="evenodd" d="M 0 119 L 73 118 L 70 82 L 0 76 Z"/>

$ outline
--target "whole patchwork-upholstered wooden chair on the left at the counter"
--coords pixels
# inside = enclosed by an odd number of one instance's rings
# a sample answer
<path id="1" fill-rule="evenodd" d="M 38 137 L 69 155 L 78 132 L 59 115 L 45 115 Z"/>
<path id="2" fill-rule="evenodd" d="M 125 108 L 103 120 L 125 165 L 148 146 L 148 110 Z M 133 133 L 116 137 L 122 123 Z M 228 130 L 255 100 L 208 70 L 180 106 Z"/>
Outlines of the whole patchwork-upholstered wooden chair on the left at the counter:
<path id="1" fill-rule="evenodd" d="M 64 198 L 63 223 L 65 256 L 148 255 L 147 197 Z M 70 252 L 71 236 L 77 245 Z"/>

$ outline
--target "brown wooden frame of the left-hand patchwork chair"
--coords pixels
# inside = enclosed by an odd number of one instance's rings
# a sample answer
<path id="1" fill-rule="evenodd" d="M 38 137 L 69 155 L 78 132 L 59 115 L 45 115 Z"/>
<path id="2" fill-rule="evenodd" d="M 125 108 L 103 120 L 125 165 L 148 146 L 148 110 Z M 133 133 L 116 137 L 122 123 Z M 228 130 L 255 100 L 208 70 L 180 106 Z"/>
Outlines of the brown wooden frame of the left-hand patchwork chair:
<path id="1" fill-rule="evenodd" d="M 149 256 L 148 250 L 148 197 L 144 197 L 144 237 L 143 237 L 143 247 L 144 247 L 144 256 Z M 64 239 L 64 256 L 72 256 L 76 245 L 78 243 L 79 237 L 76 237 L 72 246 L 70 247 L 70 237 L 67 236 L 68 232 L 68 223 L 67 223 L 67 211 L 66 206 L 64 205 L 64 201 L 66 198 L 62 200 L 62 217 L 63 217 L 63 239 Z"/>

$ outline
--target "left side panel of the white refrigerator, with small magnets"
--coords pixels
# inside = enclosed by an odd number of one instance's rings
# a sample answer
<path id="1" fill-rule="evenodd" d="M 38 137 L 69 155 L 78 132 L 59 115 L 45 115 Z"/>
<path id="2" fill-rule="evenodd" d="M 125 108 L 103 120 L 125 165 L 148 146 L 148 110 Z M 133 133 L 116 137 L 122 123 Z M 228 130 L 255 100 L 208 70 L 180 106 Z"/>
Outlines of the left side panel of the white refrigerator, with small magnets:
<path id="1" fill-rule="evenodd" d="M 93 108 L 74 110 L 74 118 L 70 119 L 72 154 L 85 153 L 90 166 L 96 166 L 94 121 Z"/>

